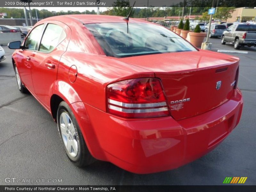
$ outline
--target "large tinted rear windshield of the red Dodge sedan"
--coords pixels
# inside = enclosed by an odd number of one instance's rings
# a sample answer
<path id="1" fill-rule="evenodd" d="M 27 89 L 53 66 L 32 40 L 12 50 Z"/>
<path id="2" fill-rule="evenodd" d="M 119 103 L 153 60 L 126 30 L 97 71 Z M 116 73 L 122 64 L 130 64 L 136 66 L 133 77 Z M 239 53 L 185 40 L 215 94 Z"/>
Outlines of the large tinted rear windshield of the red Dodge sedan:
<path id="1" fill-rule="evenodd" d="M 196 51 L 191 44 L 167 28 L 141 23 L 94 23 L 85 25 L 107 56 Z M 127 32 L 128 30 L 128 32 Z"/>

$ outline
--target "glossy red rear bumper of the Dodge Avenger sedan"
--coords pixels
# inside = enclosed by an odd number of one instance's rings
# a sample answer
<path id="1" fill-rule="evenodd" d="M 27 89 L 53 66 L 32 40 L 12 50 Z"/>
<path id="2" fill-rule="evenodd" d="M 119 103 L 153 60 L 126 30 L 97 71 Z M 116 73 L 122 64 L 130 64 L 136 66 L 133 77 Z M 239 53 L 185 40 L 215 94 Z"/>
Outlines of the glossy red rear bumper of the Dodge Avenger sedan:
<path id="1" fill-rule="evenodd" d="M 243 99 L 236 89 L 218 108 L 179 121 L 171 116 L 127 120 L 84 106 L 95 137 L 86 141 L 95 158 L 130 172 L 152 173 L 180 167 L 215 148 L 238 124 Z"/>

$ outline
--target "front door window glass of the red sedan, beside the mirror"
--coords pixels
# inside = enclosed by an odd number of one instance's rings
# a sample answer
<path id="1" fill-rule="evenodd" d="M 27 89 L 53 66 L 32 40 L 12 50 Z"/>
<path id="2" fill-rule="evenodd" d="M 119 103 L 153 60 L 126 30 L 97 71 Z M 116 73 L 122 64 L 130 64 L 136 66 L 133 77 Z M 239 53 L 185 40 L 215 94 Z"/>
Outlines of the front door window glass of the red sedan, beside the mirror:
<path id="1" fill-rule="evenodd" d="M 41 32 L 44 28 L 44 24 L 38 25 L 36 28 L 31 31 L 29 36 L 27 37 L 24 48 L 28 50 L 36 50 L 36 44 L 40 41 Z"/>

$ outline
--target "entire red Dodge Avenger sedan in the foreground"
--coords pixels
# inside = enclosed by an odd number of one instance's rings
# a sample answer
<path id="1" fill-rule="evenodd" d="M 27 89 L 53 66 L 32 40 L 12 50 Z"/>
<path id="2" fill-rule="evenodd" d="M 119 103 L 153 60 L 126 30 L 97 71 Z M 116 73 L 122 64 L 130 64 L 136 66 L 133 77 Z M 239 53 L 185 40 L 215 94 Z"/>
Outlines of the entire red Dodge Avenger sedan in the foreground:
<path id="1" fill-rule="evenodd" d="M 241 117 L 238 58 L 143 20 L 51 17 L 9 48 L 20 92 L 52 114 L 79 167 L 174 169 L 215 148 Z"/>

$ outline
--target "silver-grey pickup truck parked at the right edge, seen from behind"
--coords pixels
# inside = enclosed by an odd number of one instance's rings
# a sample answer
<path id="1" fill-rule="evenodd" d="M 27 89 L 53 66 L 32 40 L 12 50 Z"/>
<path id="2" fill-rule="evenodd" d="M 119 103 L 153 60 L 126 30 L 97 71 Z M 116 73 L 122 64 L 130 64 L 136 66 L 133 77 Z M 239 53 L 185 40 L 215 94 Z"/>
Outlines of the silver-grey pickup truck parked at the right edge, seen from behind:
<path id="1" fill-rule="evenodd" d="M 241 46 L 256 46 L 256 25 L 249 23 L 236 23 L 231 25 L 221 36 L 221 44 L 234 43 L 234 49 Z"/>

